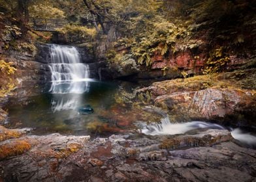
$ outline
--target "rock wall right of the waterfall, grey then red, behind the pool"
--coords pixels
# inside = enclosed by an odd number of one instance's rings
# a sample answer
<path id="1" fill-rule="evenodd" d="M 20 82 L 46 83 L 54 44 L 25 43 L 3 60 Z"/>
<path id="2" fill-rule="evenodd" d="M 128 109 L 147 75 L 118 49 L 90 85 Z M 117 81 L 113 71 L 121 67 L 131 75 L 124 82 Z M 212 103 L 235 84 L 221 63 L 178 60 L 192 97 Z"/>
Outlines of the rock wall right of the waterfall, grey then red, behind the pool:
<path id="1" fill-rule="evenodd" d="M 108 34 L 97 38 L 93 47 L 95 58 L 105 62 L 106 75 L 112 79 L 176 79 L 184 77 L 184 73 L 185 77 L 202 75 L 208 66 L 214 67 L 214 64 L 221 64 L 217 72 L 229 72 L 240 69 L 255 57 L 246 51 L 241 54 L 234 51 L 226 52 L 223 47 L 210 49 L 208 43 L 199 37 L 197 41 L 201 44 L 198 47 L 190 48 L 181 40 L 176 46 L 177 50 L 168 47 L 165 55 L 161 53 L 164 49 L 162 43 L 155 45 L 158 49 L 151 53 L 151 64 L 146 66 L 138 63 L 138 58 L 133 55 L 129 45 L 120 43 L 122 38 L 123 35 L 111 27 Z M 115 57 L 116 55 L 119 57 Z M 209 62 L 209 59 L 212 59 L 214 64 Z"/>

